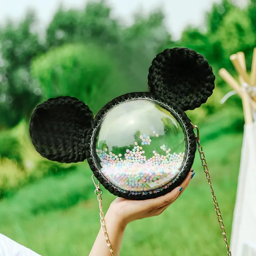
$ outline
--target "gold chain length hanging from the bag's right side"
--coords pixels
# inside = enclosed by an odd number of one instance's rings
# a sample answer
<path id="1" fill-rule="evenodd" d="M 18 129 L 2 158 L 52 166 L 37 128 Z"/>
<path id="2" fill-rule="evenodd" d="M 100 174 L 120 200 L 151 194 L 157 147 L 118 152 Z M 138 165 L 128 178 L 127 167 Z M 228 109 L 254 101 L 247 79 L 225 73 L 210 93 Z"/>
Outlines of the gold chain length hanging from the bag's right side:
<path id="1" fill-rule="evenodd" d="M 226 244 L 227 253 L 228 253 L 228 256 L 231 256 L 231 252 L 229 250 L 229 245 L 228 245 L 228 238 L 226 236 L 227 233 L 226 233 L 225 226 L 224 226 L 224 223 L 223 223 L 223 219 L 222 219 L 222 216 L 221 216 L 220 207 L 219 207 L 219 204 L 217 202 L 216 196 L 215 196 L 213 188 L 212 188 L 211 177 L 210 177 L 209 169 L 208 169 L 208 166 L 207 166 L 207 163 L 206 163 L 206 160 L 205 160 L 203 147 L 200 144 L 199 128 L 196 125 L 194 125 L 194 124 L 192 124 L 192 126 L 197 131 L 197 136 L 196 136 L 196 142 L 197 142 L 197 145 L 198 145 L 197 149 L 198 149 L 199 156 L 200 156 L 203 168 L 204 168 L 206 179 L 208 180 L 208 184 L 209 184 L 209 186 L 211 188 L 213 205 L 214 205 L 215 212 L 216 212 L 216 215 L 217 215 L 217 219 L 218 219 L 218 222 L 219 222 L 219 225 L 220 225 L 220 230 L 221 230 L 221 233 L 223 235 L 223 239 L 224 239 L 225 244 Z"/>

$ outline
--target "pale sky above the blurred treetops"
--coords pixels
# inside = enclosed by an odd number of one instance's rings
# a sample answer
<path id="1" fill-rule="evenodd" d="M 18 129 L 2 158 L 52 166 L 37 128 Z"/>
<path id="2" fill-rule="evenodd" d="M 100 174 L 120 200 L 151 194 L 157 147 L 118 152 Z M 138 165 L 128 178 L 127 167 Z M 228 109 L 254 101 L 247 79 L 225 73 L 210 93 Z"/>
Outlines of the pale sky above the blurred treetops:
<path id="1" fill-rule="evenodd" d="M 97 1 L 97 0 L 96 0 Z M 240 0 L 243 1 L 243 0 Z M 88 0 L 0 0 L 0 23 L 6 18 L 20 20 L 28 8 L 36 10 L 41 29 L 51 21 L 54 13 L 62 3 L 67 8 L 84 8 Z M 204 15 L 209 11 L 213 2 L 220 0 L 106 0 L 112 7 L 112 17 L 122 20 L 125 24 L 132 24 L 133 13 L 150 11 L 161 8 L 165 13 L 165 25 L 178 39 L 188 24 L 194 26 L 204 25 Z"/>

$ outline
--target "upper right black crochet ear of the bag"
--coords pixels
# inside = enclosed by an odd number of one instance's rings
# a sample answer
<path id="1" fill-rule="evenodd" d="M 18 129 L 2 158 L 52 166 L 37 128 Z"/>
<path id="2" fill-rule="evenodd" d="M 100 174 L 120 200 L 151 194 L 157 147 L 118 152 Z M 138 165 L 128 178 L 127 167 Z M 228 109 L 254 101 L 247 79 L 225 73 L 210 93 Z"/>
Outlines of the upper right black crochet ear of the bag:
<path id="1" fill-rule="evenodd" d="M 188 48 L 166 49 L 149 68 L 148 86 L 167 103 L 184 111 L 200 107 L 212 95 L 215 76 L 203 55 Z"/>

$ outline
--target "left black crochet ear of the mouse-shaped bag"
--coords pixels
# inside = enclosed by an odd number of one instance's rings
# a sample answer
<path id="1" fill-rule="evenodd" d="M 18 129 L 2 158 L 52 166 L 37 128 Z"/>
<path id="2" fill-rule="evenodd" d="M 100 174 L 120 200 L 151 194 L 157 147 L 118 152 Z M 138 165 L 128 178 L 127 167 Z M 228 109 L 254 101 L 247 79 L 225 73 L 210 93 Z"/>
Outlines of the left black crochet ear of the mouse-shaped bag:
<path id="1" fill-rule="evenodd" d="M 85 137 L 92 120 L 92 111 L 84 102 L 61 96 L 35 108 L 29 133 L 41 156 L 60 163 L 82 162 L 86 159 Z"/>

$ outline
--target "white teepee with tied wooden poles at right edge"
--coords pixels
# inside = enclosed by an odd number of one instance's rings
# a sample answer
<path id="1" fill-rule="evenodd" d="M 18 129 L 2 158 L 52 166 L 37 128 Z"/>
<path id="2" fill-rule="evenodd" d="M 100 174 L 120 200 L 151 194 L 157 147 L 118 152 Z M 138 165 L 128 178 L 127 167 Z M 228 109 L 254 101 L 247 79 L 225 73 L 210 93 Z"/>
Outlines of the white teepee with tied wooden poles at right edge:
<path id="1" fill-rule="evenodd" d="M 256 256 L 256 48 L 251 76 L 243 52 L 231 55 L 230 60 L 239 81 L 225 68 L 219 75 L 241 97 L 245 121 L 230 247 L 232 256 Z"/>

